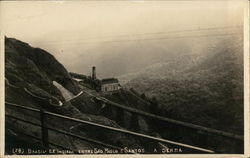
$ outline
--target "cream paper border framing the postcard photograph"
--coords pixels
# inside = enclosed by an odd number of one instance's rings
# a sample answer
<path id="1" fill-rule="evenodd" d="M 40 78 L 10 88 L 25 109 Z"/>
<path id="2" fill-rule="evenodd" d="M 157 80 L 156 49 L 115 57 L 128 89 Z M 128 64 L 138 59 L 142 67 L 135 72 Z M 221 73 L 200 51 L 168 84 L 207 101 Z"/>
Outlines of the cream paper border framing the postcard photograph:
<path id="1" fill-rule="evenodd" d="M 168 1 L 168 0 L 166 0 Z M 187 1 L 187 0 L 185 0 Z M 199 1 L 199 0 L 188 0 L 188 1 Z M 200 0 L 202 1 L 202 0 Z M 215 0 L 216 1 L 216 0 Z M 218 0 L 220 1 L 220 0 Z M 223 0 L 222 0 L 223 1 Z M 227 1 L 227 0 L 224 0 Z M 250 131 L 250 120 L 249 120 L 249 5 L 250 2 L 248 0 L 239 0 L 242 1 L 245 5 L 244 8 L 244 154 L 158 154 L 158 155 L 4 155 L 4 33 L 3 30 L 0 30 L 0 157 L 11 157 L 11 158 L 40 158 L 40 157 L 60 157 L 60 158 L 68 158 L 68 157 L 102 157 L 102 158 L 110 158 L 110 157 L 129 157 L 129 158 L 138 158 L 138 157 L 204 157 L 204 158 L 211 158 L 211 157 L 227 157 L 227 158 L 235 158 L 235 157 L 250 157 L 250 140 L 249 140 L 249 131 Z M 0 1 L 0 29 L 1 24 L 1 1 Z"/>

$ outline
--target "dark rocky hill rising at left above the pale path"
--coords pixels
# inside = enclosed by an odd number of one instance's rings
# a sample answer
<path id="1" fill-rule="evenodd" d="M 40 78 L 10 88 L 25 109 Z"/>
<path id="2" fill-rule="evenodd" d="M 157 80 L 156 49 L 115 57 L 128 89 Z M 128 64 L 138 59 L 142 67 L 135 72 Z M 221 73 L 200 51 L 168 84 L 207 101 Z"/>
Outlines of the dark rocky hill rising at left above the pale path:
<path id="1" fill-rule="evenodd" d="M 51 88 L 51 81 L 65 85 L 74 94 L 80 91 L 63 65 L 48 52 L 11 38 L 6 38 L 5 50 L 5 72 L 9 82 L 17 86 L 34 86 L 40 88 L 43 95 L 54 97 L 60 97 L 60 93 Z"/>

